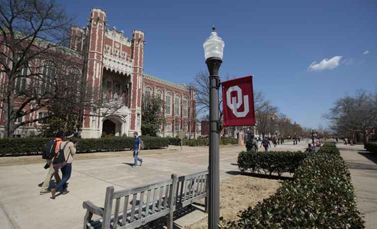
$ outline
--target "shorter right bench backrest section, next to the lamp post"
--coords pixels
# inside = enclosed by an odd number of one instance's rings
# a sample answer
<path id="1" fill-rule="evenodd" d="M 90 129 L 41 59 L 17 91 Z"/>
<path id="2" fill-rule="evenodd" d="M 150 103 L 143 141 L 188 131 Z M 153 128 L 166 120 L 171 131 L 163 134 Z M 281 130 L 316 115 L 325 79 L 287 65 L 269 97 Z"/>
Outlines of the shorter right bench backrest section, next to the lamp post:
<path id="1" fill-rule="evenodd" d="M 207 196 L 208 170 L 178 178 L 176 208 L 184 208 Z"/>

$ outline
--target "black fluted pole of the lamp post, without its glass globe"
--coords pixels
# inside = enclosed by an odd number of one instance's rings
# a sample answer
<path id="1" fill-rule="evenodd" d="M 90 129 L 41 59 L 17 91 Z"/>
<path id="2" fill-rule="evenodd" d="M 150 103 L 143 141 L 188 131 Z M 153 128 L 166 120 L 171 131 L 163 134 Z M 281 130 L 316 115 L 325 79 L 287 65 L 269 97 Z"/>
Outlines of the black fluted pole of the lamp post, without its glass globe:
<path id="1" fill-rule="evenodd" d="M 219 129 L 218 129 L 218 89 L 220 80 L 218 69 L 222 63 L 219 58 L 208 58 L 205 63 L 209 71 L 209 195 L 208 229 L 218 229 L 220 219 L 220 167 L 219 167 Z"/>

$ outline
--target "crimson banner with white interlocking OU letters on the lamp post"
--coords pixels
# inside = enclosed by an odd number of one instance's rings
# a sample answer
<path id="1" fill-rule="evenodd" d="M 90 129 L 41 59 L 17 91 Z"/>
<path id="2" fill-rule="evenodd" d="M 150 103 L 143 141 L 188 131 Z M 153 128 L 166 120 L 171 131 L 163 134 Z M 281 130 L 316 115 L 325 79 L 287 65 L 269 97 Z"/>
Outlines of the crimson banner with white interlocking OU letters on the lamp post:
<path id="1" fill-rule="evenodd" d="M 253 77 L 221 83 L 224 126 L 255 125 Z"/>

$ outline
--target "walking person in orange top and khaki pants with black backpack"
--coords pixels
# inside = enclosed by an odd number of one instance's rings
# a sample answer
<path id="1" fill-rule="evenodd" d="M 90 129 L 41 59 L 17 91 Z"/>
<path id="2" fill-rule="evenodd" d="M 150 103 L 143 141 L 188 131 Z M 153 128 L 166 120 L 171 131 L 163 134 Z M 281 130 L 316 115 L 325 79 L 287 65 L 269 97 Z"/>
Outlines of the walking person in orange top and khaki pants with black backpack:
<path id="1" fill-rule="evenodd" d="M 48 169 L 48 173 L 46 178 L 43 181 L 42 188 L 40 189 L 40 195 L 44 195 L 49 193 L 48 187 L 50 186 L 50 181 L 52 176 L 55 177 L 56 184 L 60 182 L 60 176 L 58 172 L 55 172 L 54 167 L 51 165 L 52 158 L 56 155 L 59 145 L 62 142 L 62 138 L 64 136 L 63 131 L 58 131 L 56 133 L 56 137 L 47 142 L 43 147 L 43 154 L 42 158 L 46 159 L 46 165 L 44 166 L 45 169 Z"/>

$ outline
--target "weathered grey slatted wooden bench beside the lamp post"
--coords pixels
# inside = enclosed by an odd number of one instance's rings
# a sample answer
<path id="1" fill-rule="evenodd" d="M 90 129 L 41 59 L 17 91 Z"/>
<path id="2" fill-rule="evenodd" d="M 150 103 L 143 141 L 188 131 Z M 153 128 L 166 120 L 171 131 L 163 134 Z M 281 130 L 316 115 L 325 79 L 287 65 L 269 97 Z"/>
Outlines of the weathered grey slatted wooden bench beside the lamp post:
<path id="1" fill-rule="evenodd" d="M 113 186 L 107 187 L 104 208 L 90 201 L 83 203 L 83 208 L 87 210 L 83 228 L 133 229 L 167 216 L 168 229 L 173 229 L 174 211 L 202 198 L 205 199 L 207 211 L 207 177 L 208 171 L 181 177 L 172 174 L 170 180 L 129 190 L 115 192 Z M 93 215 L 102 218 L 92 221 Z"/>

